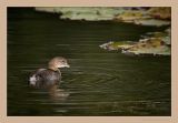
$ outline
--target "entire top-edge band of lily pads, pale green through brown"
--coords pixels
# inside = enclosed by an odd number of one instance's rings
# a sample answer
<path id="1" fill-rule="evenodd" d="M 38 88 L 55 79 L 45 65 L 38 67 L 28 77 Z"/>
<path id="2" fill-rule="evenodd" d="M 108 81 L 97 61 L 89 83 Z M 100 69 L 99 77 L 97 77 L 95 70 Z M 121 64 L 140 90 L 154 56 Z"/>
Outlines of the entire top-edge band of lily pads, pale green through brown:
<path id="1" fill-rule="evenodd" d="M 139 7 L 37 7 L 37 11 L 59 13 L 60 19 L 85 21 L 118 21 L 141 25 L 169 25 L 170 8 Z"/>

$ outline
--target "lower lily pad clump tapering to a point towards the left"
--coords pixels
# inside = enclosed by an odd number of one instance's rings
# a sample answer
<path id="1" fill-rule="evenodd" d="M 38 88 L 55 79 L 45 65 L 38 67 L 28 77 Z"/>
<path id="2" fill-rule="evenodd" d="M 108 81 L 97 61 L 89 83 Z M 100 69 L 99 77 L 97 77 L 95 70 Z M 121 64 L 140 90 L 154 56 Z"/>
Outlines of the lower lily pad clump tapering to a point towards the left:
<path id="1" fill-rule="evenodd" d="M 146 33 L 144 39 L 138 42 L 119 41 L 108 42 L 99 45 L 105 50 L 121 50 L 126 54 L 159 54 L 170 55 L 170 31 L 165 32 L 149 32 Z"/>

